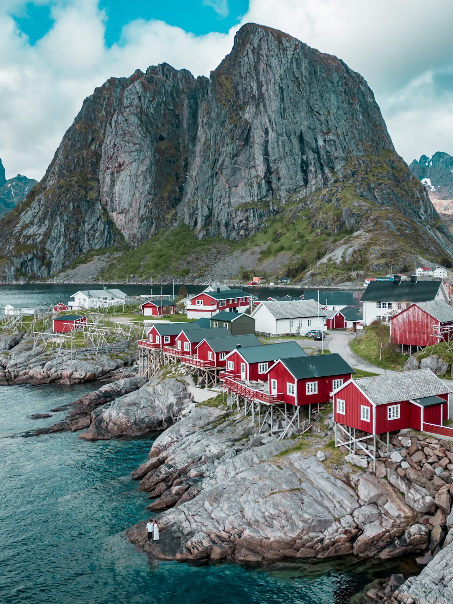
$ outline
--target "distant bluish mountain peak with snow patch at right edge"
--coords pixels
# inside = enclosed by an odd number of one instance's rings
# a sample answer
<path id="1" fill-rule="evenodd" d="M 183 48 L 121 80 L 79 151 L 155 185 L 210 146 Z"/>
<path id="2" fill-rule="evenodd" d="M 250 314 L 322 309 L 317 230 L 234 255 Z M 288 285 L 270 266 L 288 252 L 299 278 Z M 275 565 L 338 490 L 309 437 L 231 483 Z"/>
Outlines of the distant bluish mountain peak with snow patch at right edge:
<path id="1" fill-rule="evenodd" d="M 419 161 L 414 159 L 409 169 L 429 191 L 437 191 L 437 199 L 453 198 L 453 156 L 442 151 L 432 157 L 422 155 Z"/>

